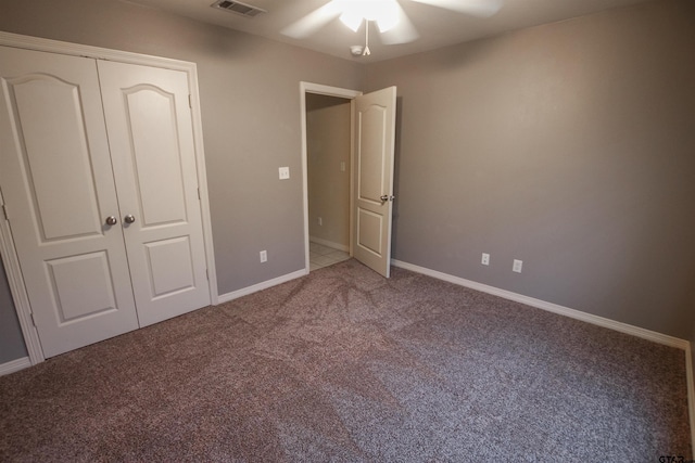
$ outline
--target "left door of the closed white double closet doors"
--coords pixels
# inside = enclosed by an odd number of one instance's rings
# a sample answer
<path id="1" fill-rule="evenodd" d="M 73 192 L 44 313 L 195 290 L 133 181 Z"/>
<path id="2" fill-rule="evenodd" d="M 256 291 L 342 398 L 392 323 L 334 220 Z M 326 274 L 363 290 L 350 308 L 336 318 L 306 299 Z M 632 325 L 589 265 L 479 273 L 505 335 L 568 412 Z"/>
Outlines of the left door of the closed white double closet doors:
<path id="1" fill-rule="evenodd" d="M 0 47 L 0 184 L 45 356 L 137 329 L 96 62 Z"/>

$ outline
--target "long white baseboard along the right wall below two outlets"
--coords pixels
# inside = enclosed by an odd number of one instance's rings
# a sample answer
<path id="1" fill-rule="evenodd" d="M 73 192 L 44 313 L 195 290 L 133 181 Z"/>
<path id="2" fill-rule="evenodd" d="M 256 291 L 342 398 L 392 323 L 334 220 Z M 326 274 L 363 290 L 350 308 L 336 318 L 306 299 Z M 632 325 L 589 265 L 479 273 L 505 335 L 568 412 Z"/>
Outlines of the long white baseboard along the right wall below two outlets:
<path id="1" fill-rule="evenodd" d="M 492 294 L 494 296 L 500 296 L 504 299 L 509 299 L 516 303 L 526 304 L 527 306 L 535 307 L 536 309 L 547 310 L 548 312 L 558 313 L 560 316 L 581 320 L 587 323 L 615 330 L 621 333 L 631 334 L 633 336 L 637 336 L 643 339 L 648 339 L 654 343 L 662 344 L 670 347 L 675 347 L 683 350 L 686 350 L 690 347 L 690 342 L 685 339 L 681 339 L 679 337 L 669 336 L 669 335 L 657 333 L 650 330 L 645 330 L 640 326 L 633 326 L 628 323 L 617 322 L 615 320 L 606 319 L 604 317 L 598 317 L 592 313 L 582 312 L 581 310 L 570 309 L 568 307 L 559 306 L 557 304 L 547 303 L 545 300 L 525 296 L 522 294 L 513 293 L 510 291 L 501 290 L 498 287 L 489 286 L 482 283 L 477 283 L 475 281 L 466 280 L 459 276 L 450 275 L 448 273 L 442 273 L 437 270 L 419 267 L 414 263 L 403 262 L 396 259 L 391 260 L 391 263 L 395 267 L 410 270 L 416 273 L 422 273 L 428 276 L 435 278 L 438 280 L 444 280 L 450 283 L 469 287 L 471 290 L 477 290 L 483 293 Z"/>

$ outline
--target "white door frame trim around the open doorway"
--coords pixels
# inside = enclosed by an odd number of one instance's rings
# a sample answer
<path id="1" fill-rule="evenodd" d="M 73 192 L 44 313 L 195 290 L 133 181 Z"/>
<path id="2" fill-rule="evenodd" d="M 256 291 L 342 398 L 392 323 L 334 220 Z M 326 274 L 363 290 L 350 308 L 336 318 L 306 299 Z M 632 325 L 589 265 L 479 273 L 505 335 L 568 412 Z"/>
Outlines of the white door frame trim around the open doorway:
<path id="1" fill-rule="evenodd" d="M 350 90 L 339 87 L 330 87 L 321 83 L 300 82 L 300 118 L 302 126 L 302 191 L 304 201 L 304 271 L 309 272 L 308 249 L 308 152 L 306 143 L 306 93 L 338 97 L 351 100 L 350 104 L 350 255 L 352 256 L 352 221 L 353 221 L 353 166 L 355 153 L 355 104 L 352 100 L 363 94 L 359 90 Z"/>

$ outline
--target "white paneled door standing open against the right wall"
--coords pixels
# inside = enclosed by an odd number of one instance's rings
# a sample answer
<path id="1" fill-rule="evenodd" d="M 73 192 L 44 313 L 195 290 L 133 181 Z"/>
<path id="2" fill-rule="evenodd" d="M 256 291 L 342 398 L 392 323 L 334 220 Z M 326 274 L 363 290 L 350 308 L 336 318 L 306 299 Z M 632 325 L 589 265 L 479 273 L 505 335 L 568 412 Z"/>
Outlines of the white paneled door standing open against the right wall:
<path id="1" fill-rule="evenodd" d="M 353 256 L 389 278 L 396 88 L 355 98 Z"/>

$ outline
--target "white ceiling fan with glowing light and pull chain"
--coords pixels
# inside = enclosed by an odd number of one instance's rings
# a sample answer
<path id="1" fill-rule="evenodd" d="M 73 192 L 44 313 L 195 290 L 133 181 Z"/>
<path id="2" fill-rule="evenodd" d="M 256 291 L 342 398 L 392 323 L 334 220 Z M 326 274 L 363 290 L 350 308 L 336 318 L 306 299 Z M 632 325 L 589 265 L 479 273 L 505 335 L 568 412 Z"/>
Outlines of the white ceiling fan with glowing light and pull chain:
<path id="1" fill-rule="evenodd" d="M 503 5 L 504 0 L 410 0 L 426 3 L 432 7 L 443 8 L 457 13 L 479 17 L 489 17 L 495 14 Z M 355 33 L 359 30 L 362 23 L 365 27 L 365 47 L 353 54 L 368 55 L 369 52 L 369 23 L 377 24 L 381 33 L 381 42 L 386 44 L 407 43 L 416 40 L 419 35 L 407 17 L 397 0 L 330 0 L 323 7 L 312 11 L 306 16 L 290 24 L 281 30 L 281 34 L 294 39 L 306 38 L 328 23 L 339 17 L 340 21 Z"/>

